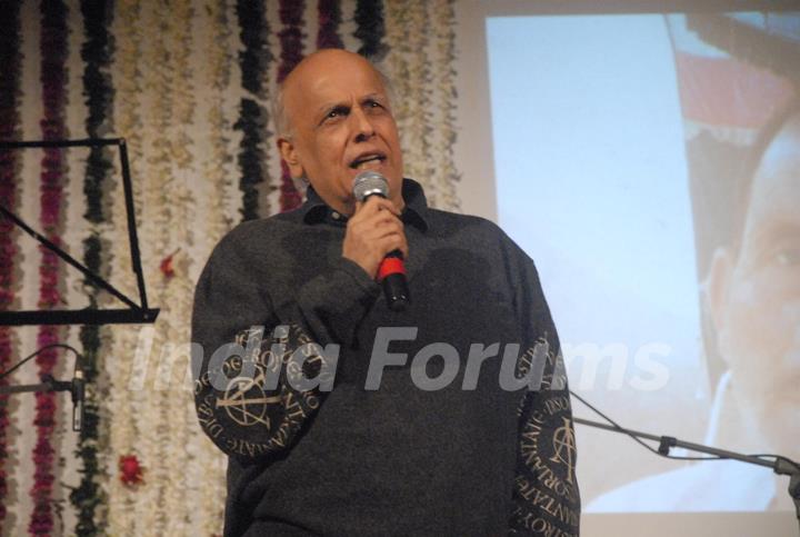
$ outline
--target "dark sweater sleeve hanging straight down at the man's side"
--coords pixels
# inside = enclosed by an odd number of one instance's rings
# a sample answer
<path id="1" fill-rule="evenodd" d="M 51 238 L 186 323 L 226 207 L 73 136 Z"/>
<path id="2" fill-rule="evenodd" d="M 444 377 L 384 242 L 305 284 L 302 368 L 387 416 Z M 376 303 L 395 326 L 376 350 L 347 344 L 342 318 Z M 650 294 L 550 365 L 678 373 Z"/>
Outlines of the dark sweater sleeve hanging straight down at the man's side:
<path id="1" fill-rule="evenodd" d="M 526 341 L 518 376 L 541 379 L 519 407 L 517 473 L 509 535 L 578 536 L 576 438 L 561 349 L 533 261 L 512 245 L 516 310 Z"/>

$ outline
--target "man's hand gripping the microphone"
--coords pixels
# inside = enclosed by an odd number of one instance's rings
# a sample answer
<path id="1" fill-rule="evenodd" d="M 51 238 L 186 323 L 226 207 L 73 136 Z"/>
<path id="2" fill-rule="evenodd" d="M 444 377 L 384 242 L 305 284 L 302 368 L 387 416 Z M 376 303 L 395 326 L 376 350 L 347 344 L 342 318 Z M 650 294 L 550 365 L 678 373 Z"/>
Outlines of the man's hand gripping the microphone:
<path id="1" fill-rule="evenodd" d="M 379 196 L 356 203 L 356 213 L 348 220 L 342 257 L 354 261 L 374 278 L 386 255 L 394 250 L 408 258 L 406 232 L 394 205 Z"/>

